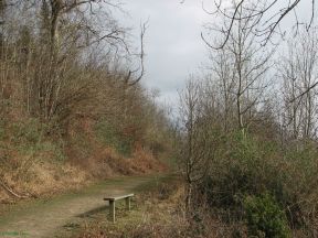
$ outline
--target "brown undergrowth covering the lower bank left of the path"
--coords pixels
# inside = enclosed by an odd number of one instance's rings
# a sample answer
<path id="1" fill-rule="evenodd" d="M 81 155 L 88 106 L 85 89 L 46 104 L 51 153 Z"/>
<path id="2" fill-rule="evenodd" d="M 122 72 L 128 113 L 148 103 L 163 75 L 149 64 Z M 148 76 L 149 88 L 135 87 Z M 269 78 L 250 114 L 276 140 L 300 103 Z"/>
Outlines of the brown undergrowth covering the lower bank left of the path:
<path id="1" fill-rule="evenodd" d="M 98 123 L 76 120 L 66 137 L 47 133 L 49 126 L 34 118 L 3 121 L 0 173 L 9 191 L 2 187 L 1 202 L 18 198 L 10 191 L 21 197 L 38 197 L 110 176 L 167 170 L 160 158 L 167 151 L 155 156 L 150 149 L 131 144 L 129 152 L 124 152 L 109 142 L 117 138 L 99 129 Z"/>

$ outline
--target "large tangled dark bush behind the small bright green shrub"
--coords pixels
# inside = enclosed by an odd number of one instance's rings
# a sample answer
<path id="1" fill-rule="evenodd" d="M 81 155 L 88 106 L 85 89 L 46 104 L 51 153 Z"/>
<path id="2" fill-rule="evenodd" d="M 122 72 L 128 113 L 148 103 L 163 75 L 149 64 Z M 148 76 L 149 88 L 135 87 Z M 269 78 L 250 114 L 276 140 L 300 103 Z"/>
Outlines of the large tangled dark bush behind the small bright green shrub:
<path id="1" fill-rule="evenodd" d="M 227 223 L 244 216 L 246 196 L 272 194 L 290 227 L 314 230 L 318 197 L 318 152 L 315 143 L 282 148 L 275 141 L 226 134 L 215 145 L 214 160 L 198 195 Z"/>

